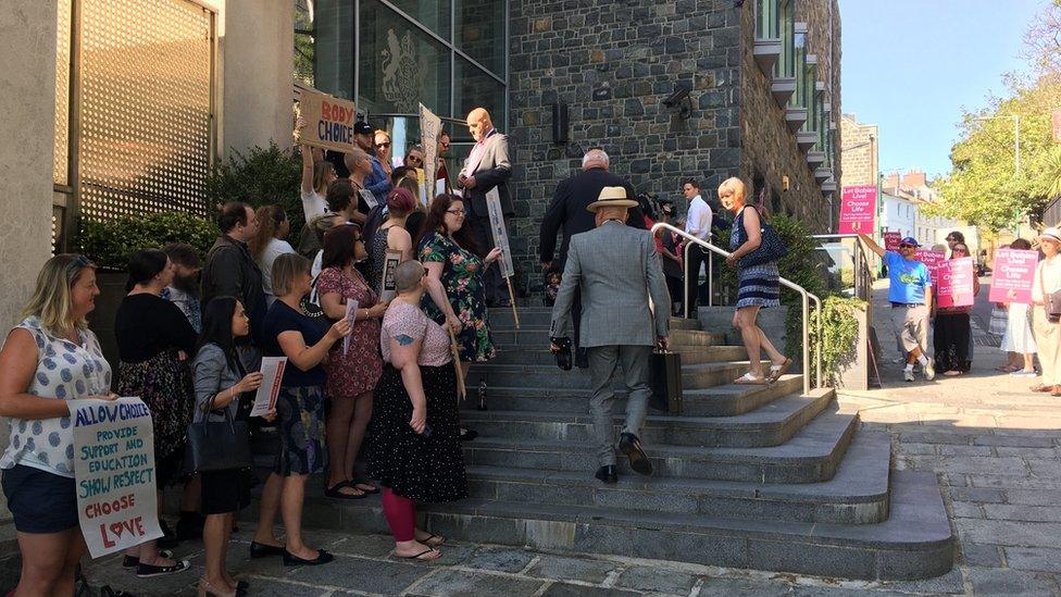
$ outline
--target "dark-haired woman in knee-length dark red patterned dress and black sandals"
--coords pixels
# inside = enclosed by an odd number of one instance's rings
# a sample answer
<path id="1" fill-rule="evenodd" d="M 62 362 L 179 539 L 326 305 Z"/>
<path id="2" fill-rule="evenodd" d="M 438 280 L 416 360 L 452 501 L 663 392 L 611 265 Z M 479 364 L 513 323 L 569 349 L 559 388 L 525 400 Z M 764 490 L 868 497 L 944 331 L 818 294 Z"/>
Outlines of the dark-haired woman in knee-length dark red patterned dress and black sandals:
<path id="1" fill-rule="evenodd" d="M 336 226 L 324 235 L 321 275 L 316 281 L 324 314 L 333 320 L 347 316 L 347 306 L 357 301 L 349 344 L 336 343 L 325 365 L 328 377 L 324 395 L 330 402 L 327 416 L 328 456 L 332 461 L 325 495 L 336 499 L 361 499 L 379 489 L 359 478 L 353 461 L 361 449 L 369 419 L 372 391 L 379 381 L 379 320 L 387 304 L 369 287 L 353 264 L 364 258 L 357 226 Z"/>

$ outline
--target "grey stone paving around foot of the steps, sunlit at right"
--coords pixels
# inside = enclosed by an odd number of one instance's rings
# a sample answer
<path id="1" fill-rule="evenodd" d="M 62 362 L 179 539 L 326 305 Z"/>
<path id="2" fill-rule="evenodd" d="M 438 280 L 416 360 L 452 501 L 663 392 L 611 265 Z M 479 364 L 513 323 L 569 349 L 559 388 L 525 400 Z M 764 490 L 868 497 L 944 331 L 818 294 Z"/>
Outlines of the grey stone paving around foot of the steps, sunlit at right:
<path id="1" fill-rule="evenodd" d="M 877 313 L 886 312 L 878 284 Z M 984 286 L 982 299 L 987 294 Z M 320 568 L 285 568 L 250 560 L 250 525 L 234 538 L 229 567 L 252 585 L 251 595 L 505 595 L 516 596 L 799 596 L 1054 595 L 1061 596 L 1061 399 L 1026 391 L 1032 381 L 994 371 L 1003 356 L 974 318 L 973 371 L 935 382 L 901 381 L 879 314 L 884 386 L 841 391 L 861 410 L 863 425 L 891 434 L 895 467 L 934 471 L 959 539 L 954 569 L 938 579 L 864 582 L 722 569 L 606 556 L 546 554 L 451 542 L 440 563 L 390 558 L 380 535 L 307 533 L 337 560 Z M 884 321 L 882 325 L 879 322 Z M 92 562 L 92 583 L 137 595 L 188 595 L 202 573 L 201 544 L 178 548 L 195 570 L 139 581 L 118 559 Z"/>

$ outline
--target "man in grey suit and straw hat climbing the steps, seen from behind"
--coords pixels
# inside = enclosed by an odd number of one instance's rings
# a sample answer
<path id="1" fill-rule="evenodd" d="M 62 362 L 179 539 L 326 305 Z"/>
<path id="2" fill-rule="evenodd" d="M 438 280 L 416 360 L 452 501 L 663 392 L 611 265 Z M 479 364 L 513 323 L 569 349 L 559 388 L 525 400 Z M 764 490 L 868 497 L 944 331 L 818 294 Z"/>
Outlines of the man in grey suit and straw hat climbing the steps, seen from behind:
<path id="1" fill-rule="evenodd" d="M 551 350 L 558 352 L 566 338 L 575 289 L 582 291 L 582 344 L 589 351 L 589 374 L 594 396 L 589 410 L 600 468 L 596 477 L 615 483 L 615 449 L 612 435 L 611 386 L 615 366 L 623 368 L 629 398 L 626 424 L 619 449 L 631 468 L 652 474 L 652 463 L 641 449 L 638 434 L 648 411 L 649 358 L 653 346 L 667 344 L 669 304 L 663 270 L 651 233 L 626 225 L 627 210 L 637 201 L 627 199 L 623 187 L 604 187 L 586 209 L 596 213 L 597 228 L 571 237 L 563 282 L 557 294 L 550 326 Z M 656 307 L 649 307 L 649 298 Z"/>

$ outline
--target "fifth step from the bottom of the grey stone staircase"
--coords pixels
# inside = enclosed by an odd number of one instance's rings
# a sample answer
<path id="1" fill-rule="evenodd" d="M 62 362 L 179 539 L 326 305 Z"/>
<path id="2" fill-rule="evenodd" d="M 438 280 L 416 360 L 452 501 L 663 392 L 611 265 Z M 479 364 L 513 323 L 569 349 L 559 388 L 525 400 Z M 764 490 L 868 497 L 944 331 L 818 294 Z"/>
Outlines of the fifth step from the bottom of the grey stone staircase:
<path id="1" fill-rule="evenodd" d="M 560 371 L 559 369 L 557 370 Z M 469 372 L 471 373 L 471 371 Z M 465 409 L 478 405 L 478 383 L 471 383 Z M 685 416 L 731 416 L 753 411 L 782 396 L 802 391 L 802 375 L 785 375 L 770 386 L 738 386 L 727 384 L 704 389 L 683 391 Z M 536 412 L 571 412 L 585 414 L 591 391 L 588 388 L 537 387 L 521 381 L 519 385 L 488 384 L 486 407 L 489 410 L 525 410 Z M 626 389 L 615 390 L 616 412 L 626 408 Z"/>

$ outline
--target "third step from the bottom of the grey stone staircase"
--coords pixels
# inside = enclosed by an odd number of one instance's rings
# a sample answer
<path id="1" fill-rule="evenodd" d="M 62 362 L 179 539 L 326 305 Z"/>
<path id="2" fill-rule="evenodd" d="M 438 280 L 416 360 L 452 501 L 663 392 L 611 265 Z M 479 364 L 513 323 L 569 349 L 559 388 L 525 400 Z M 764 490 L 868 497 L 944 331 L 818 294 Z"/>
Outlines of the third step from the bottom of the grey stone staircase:
<path id="1" fill-rule="evenodd" d="M 656 476 L 757 483 L 816 483 L 832 478 L 858 426 L 857 414 L 826 412 L 781 446 L 729 448 L 653 445 L 645 451 Z M 595 471 L 589 441 L 545 441 L 480 435 L 464 444 L 469 464 L 547 471 Z M 634 474 L 625 458 L 620 474 Z"/>

